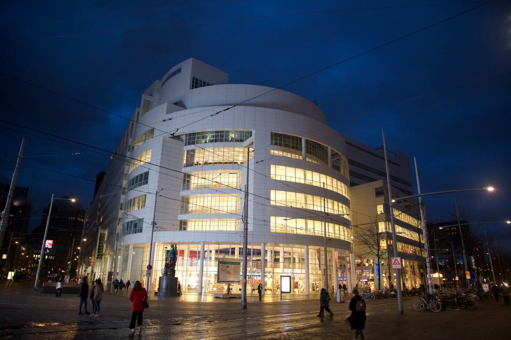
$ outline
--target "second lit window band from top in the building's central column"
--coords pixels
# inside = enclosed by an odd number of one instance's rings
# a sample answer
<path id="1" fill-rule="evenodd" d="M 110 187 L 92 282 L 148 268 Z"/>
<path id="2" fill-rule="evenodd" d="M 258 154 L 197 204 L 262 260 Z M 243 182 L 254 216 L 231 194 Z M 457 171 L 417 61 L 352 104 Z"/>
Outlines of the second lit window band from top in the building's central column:
<path id="1" fill-rule="evenodd" d="M 202 188 L 240 189 L 241 172 L 239 170 L 200 171 L 183 175 L 183 190 Z"/>

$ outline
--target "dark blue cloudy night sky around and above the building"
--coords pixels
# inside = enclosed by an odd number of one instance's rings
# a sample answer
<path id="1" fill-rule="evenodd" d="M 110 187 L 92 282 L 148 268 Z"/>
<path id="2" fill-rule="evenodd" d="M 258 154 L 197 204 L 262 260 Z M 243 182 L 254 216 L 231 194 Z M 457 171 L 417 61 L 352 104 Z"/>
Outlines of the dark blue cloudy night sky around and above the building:
<path id="1" fill-rule="evenodd" d="M 128 120 L 66 97 L 130 117 L 154 80 L 191 57 L 228 72 L 230 83 L 278 87 L 481 4 L 3 2 L 1 118 L 113 151 Z M 505 221 L 510 52 L 511 6 L 493 1 L 284 89 L 315 101 L 332 127 L 367 145 L 381 145 L 384 128 L 390 149 L 417 157 L 423 192 L 495 186 L 491 194 L 426 198 L 428 222 L 452 220 L 454 199 L 461 218 Z M 31 226 L 52 192 L 87 206 L 94 182 L 56 172 L 95 180 L 109 157 L 0 123 L 0 172 L 8 178 L 22 136 L 26 156 L 56 155 L 22 161 L 17 184 L 30 186 Z M 485 227 L 511 252 L 511 226 Z"/>

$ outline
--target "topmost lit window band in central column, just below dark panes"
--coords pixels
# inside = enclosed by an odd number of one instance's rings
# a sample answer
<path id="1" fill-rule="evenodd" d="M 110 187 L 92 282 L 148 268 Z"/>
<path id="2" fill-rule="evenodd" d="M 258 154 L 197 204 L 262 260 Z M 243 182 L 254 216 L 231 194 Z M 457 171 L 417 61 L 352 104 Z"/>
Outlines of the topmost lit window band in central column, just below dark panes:
<path id="1" fill-rule="evenodd" d="M 208 165 L 208 164 L 243 164 L 246 162 L 246 148 L 204 148 L 186 150 L 184 152 L 184 165 Z M 250 153 L 252 159 L 253 153 Z"/>

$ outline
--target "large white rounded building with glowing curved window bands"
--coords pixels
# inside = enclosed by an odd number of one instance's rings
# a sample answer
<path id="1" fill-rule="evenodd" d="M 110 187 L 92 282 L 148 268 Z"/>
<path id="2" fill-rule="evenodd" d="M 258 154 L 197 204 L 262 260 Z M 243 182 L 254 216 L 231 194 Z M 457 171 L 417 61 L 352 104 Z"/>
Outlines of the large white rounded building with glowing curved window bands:
<path id="1" fill-rule="evenodd" d="M 183 292 L 225 290 L 217 260 L 246 251 L 249 294 L 263 278 L 265 293 L 277 294 L 283 275 L 292 294 L 317 293 L 324 195 L 327 213 L 347 214 L 327 217 L 329 286 L 351 288 L 346 143 L 316 105 L 280 89 L 228 84 L 225 72 L 188 59 L 155 81 L 140 107 L 87 210 L 82 274 L 145 283 L 151 262 L 157 290 L 165 249 L 177 244 Z"/>

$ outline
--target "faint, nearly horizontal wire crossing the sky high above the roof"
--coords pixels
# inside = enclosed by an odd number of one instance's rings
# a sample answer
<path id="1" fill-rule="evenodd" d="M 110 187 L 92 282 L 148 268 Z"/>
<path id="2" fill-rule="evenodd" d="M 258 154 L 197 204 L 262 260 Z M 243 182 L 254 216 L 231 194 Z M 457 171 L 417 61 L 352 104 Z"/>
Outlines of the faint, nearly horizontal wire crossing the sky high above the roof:
<path id="1" fill-rule="evenodd" d="M 464 5 L 471 3 L 480 3 L 476 2 L 457 2 L 457 3 L 448 3 L 448 4 L 426 4 L 426 5 L 403 5 L 403 6 L 387 6 L 387 7 L 371 7 L 371 8 L 352 8 L 352 9 L 334 9 L 334 10 L 324 10 L 324 11 L 304 11 L 304 12 L 292 12 L 292 13 L 276 13 L 276 14 L 266 14 L 266 15 L 253 15 L 253 16 L 240 16 L 240 17 L 227 17 L 227 18 L 214 18 L 214 19 L 205 19 L 205 20 L 195 20 L 195 21 L 181 21 L 181 22 L 172 22 L 172 23 L 162 23 L 159 25 L 146 25 L 140 27 L 129 27 L 122 29 L 108 29 L 102 31 L 93 31 L 93 32 L 83 32 L 83 33 L 73 33 L 73 34 L 60 34 L 54 36 L 43 36 L 29 39 L 21 39 L 21 41 L 37 41 L 37 40 L 53 40 L 53 39 L 63 39 L 63 38 L 75 38 L 87 35 L 98 35 L 104 33 L 116 33 L 116 32 L 130 32 L 130 31 L 138 31 L 138 30 L 151 30 L 158 28 L 169 28 L 169 27 L 178 27 L 183 25 L 198 25 L 201 23 L 217 23 L 217 22 L 229 22 L 229 21 L 243 21 L 243 20 L 253 20 L 253 19 L 265 19 L 265 18 L 274 18 L 274 17 L 288 17 L 288 16 L 301 16 L 301 15 L 316 15 L 316 14 L 333 14 L 333 13 L 344 13 L 344 12 L 362 12 L 362 11 L 377 11 L 377 10 L 387 10 L 387 9 L 406 9 L 406 8 L 424 8 L 424 7 L 439 7 L 439 6 L 453 6 L 453 5 Z"/>

